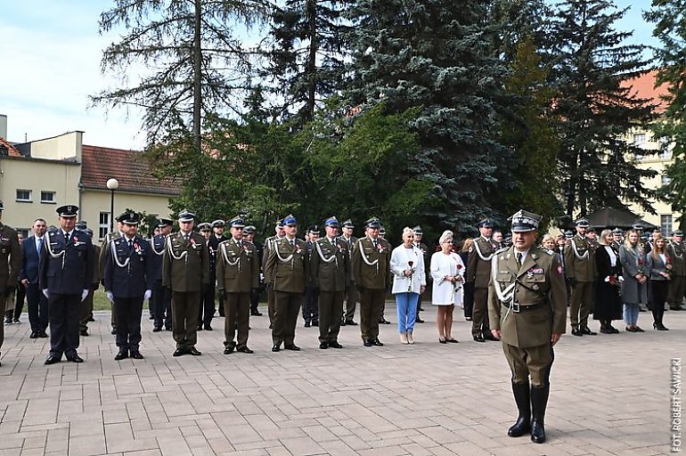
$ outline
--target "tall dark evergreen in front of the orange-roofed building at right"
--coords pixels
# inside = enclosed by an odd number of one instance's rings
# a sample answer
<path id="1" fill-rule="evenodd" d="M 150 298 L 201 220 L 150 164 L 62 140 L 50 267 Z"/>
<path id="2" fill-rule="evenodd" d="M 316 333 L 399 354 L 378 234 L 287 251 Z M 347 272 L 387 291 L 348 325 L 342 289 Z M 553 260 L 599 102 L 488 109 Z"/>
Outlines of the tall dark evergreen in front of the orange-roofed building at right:
<path id="1" fill-rule="evenodd" d="M 551 34 L 559 120 L 559 171 L 565 210 L 572 216 L 633 202 L 654 212 L 641 179 L 654 171 L 635 167 L 645 151 L 623 135 L 651 119 L 649 100 L 633 95 L 626 81 L 646 67 L 643 45 L 623 45 L 631 32 L 614 28 L 626 10 L 608 0 L 568 0 L 556 7 Z"/>

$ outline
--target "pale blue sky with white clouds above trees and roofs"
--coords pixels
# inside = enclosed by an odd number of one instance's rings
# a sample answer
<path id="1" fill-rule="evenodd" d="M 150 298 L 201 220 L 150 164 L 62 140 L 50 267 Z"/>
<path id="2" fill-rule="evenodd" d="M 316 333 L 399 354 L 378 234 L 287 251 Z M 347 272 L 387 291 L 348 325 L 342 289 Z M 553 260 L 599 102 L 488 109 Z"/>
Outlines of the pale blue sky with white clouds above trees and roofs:
<path id="1" fill-rule="evenodd" d="M 116 84 L 100 72 L 102 49 L 115 36 L 101 37 L 98 17 L 109 1 L 4 1 L 0 6 L 0 114 L 8 118 L 7 139 L 34 141 L 83 131 L 86 144 L 142 149 L 138 112 L 88 109 L 88 95 Z M 649 0 L 617 0 L 630 6 L 617 29 L 635 30 L 633 43 L 655 44 L 652 24 L 641 11 Z"/>

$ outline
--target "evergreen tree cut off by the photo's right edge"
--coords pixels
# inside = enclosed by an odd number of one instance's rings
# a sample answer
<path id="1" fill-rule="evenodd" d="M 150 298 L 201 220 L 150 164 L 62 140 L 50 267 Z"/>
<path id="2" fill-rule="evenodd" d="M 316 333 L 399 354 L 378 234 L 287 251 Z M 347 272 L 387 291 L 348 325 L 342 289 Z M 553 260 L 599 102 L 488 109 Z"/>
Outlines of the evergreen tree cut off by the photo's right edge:
<path id="1" fill-rule="evenodd" d="M 672 149 L 674 161 L 666 167 L 669 183 L 660 195 L 682 212 L 681 228 L 686 228 L 686 2 L 653 0 L 645 19 L 655 23 L 653 36 L 661 46 L 656 49 L 657 85 L 666 85 L 666 110 L 655 124 L 655 134 L 663 148 Z"/>

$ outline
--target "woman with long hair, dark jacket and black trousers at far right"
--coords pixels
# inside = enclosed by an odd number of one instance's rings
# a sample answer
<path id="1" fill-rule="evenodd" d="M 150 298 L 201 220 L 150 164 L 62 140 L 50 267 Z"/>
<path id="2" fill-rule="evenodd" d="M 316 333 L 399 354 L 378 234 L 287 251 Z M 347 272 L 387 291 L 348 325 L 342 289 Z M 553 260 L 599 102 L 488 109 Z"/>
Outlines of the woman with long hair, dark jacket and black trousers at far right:
<path id="1" fill-rule="evenodd" d="M 662 316 L 665 314 L 665 302 L 671 280 L 672 262 L 667 255 L 665 238 L 662 234 L 656 234 L 653 240 L 653 249 L 646 257 L 646 265 L 650 271 L 650 292 L 648 306 L 653 312 L 653 328 L 658 331 L 666 331 L 662 324 Z"/>

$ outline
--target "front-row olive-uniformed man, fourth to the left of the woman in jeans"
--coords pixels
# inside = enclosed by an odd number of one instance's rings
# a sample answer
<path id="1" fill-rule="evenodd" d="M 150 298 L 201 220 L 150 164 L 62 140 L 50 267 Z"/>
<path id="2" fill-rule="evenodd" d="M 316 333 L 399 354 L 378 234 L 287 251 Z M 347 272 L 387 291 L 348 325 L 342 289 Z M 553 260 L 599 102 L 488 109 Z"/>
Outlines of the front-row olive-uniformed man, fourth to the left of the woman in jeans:
<path id="1" fill-rule="evenodd" d="M 224 354 L 251 354 L 248 347 L 250 291 L 259 286 L 259 256 L 249 240 L 243 239 L 245 223 L 241 216 L 229 221 L 231 240 L 219 244 L 216 252 L 216 288 L 224 297 Z M 235 335 L 238 328 L 238 345 Z"/>

